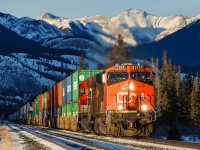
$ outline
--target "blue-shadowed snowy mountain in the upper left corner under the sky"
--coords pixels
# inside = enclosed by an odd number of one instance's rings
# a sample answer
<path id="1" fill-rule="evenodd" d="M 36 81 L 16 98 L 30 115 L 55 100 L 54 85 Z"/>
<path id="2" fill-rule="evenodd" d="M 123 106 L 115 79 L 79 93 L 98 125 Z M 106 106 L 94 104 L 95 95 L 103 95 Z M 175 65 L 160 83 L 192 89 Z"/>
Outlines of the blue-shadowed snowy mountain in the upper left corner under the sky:
<path id="1" fill-rule="evenodd" d="M 56 17 L 52 17 L 56 18 Z M 17 34 L 37 41 L 44 42 L 45 40 L 57 36 L 63 36 L 64 33 L 56 27 L 48 24 L 45 21 L 31 19 L 29 17 L 17 18 L 9 14 L 0 12 L 0 24 Z"/>

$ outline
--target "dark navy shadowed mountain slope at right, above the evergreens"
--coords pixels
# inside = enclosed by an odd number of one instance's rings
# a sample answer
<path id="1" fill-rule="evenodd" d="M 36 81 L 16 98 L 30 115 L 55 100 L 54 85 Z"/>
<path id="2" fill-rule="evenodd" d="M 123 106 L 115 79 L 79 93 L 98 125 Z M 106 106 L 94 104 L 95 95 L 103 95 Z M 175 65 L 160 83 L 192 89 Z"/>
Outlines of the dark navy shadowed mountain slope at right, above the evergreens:
<path id="1" fill-rule="evenodd" d="M 200 19 L 174 32 L 160 41 L 132 48 L 134 57 L 150 60 L 153 56 L 162 60 L 166 49 L 172 62 L 182 67 L 182 72 L 200 72 Z"/>

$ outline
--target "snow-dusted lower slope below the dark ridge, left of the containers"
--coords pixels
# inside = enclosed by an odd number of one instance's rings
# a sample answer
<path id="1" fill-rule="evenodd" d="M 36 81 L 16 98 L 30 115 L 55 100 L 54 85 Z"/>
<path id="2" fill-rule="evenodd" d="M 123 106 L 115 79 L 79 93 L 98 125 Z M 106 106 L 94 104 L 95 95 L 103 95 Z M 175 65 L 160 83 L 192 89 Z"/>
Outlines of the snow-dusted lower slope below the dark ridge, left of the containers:
<path id="1" fill-rule="evenodd" d="M 79 68 L 79 56 L 34 56 L 26 53 L 0 55 L 0 103 L 23 104 Z"/>

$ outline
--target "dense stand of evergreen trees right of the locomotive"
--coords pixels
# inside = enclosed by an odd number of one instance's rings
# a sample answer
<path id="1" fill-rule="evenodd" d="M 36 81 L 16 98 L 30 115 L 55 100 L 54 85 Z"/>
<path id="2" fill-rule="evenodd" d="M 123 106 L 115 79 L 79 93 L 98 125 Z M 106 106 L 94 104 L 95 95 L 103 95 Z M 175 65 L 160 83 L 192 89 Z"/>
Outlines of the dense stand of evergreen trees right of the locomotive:
<path id="1" fill-rule="evenodd" d="M 198 72 L 190 71 L 181 75 L 181 67 L 172 64 L 165 50 L 162 68 L 159 70 L 158 59 L 152 58 L 155 72 L 155 109 L 159 123 L 175 126 L 178 123 L 191 126 L 200 125 L 200 90 Z"/>

